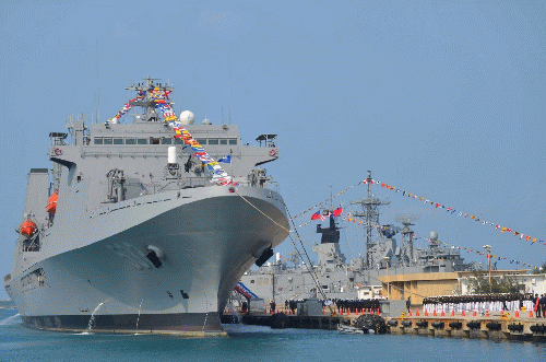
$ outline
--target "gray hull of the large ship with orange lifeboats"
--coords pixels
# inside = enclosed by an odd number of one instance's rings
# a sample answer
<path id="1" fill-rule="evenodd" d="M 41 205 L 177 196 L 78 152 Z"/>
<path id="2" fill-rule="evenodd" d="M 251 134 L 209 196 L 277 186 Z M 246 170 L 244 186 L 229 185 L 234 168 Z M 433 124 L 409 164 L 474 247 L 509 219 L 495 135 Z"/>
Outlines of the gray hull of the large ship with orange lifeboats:
<path id="1" fill-rule="evenodd" d="M 15 253 L 19 265 L 31 266 L 5 285 L 28 327 L 224 336 L 218 311 L 288 229 L 278 194 L 242 186 L 166 191 L 81 215 L 61 211 L 43 250 Z"/>

